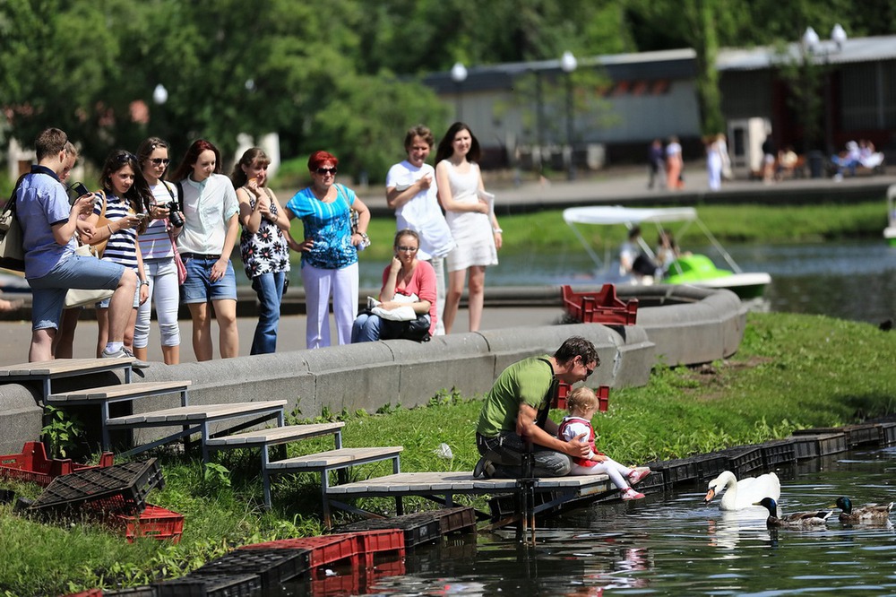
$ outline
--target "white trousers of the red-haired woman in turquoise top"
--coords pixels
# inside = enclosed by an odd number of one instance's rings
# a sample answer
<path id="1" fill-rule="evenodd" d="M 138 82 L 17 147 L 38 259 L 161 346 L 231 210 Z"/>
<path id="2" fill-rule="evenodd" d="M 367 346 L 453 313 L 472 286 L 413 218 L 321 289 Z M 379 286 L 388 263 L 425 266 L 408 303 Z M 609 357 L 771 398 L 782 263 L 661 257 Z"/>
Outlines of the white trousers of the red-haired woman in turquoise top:
<path id="1" fill-rule="evenodd" d="M 302 286 L 308 312 L 305 333 L 308 349 L 330 346 L 331 293 L 337 341 L 350 344 L 351 325 L 358 316 L 358 262 L 339 270 L 302 265 Z"/>

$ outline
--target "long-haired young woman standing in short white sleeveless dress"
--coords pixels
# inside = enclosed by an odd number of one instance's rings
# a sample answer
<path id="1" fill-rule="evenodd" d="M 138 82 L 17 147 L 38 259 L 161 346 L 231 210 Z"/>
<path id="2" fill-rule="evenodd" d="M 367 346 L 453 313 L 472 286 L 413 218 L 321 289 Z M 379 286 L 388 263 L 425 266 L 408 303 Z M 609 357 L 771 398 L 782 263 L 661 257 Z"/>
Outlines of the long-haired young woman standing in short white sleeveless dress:
<path id="1" fill-rule="evenodd" d="M 501 227 L 487 200 L 479 172 L 479 142 L 470 126 L 456 122 L 448 128 L 435 152 L 435 181 L 445 220 L 457 243 L 448 254 L 448 293 L 445 299 L 445 333 L 451 333 L 469 273 L 470 332 L 482 322 L 486 268 L 498 263 Z"/>

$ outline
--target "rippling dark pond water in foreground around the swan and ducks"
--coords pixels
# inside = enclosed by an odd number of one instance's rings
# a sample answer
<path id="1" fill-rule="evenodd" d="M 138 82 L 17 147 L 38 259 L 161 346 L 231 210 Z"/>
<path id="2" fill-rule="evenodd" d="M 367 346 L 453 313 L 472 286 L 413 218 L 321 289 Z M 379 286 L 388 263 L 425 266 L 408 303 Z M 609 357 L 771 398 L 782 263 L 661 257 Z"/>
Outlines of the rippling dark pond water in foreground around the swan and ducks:
<path id="1" fill-rule="evenodd" d="M 784 513 L 830 506 L 840 496 L 888 502 L 896 494 L 896 448 L 806 461 L 779 475 Z M 534 547 L 509 531 L 413 549 L 403 574 L 349 593 L 896 595 L 892 524 L 849 526 L 835 514 L 818 531 L 769 531 L 764 509 L 703 506 L 705 488 L 575 510 L 541 523 Z M 282 589 L 278 595 L 349 594 L 309 581 Z"/>

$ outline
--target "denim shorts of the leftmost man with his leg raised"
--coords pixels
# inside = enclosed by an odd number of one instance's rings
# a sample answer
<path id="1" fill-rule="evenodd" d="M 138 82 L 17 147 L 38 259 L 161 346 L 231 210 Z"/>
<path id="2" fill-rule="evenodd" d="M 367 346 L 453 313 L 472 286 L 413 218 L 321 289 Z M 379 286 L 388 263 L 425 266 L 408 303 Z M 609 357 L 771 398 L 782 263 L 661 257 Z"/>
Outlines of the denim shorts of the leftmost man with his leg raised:
<path id="1" fill-rule="evenodd" d="M 125 266 L 96 257 L 70 255 L 45 276 L 31 278 L 31 329 L 59 329 L 65 293 L 70 288 L 115 290 Z"/>

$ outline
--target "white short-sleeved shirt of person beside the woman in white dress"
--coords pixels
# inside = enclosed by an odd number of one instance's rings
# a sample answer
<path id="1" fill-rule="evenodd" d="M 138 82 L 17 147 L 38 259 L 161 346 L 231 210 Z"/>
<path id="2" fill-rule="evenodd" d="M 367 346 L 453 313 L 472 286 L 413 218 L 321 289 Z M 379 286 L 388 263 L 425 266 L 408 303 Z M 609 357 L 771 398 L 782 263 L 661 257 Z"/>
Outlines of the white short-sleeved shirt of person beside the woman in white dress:
<path id="1" fill-rule="evenodd" d="M 395 164 L 386 175 L 386 188 L 403 187 L 416 183 L 429 175 L 433 182 L 425 191 L 420 191 L 395 210 L 397 229 L 412 229 L 420 235 L 418 258 L 428 261 L 433 257 L 444 257 L 454 248 L 451 229 L 442 214 L 435 186 L 435 169 L 429 164 L 417 168 L 408 160 Z"/>

